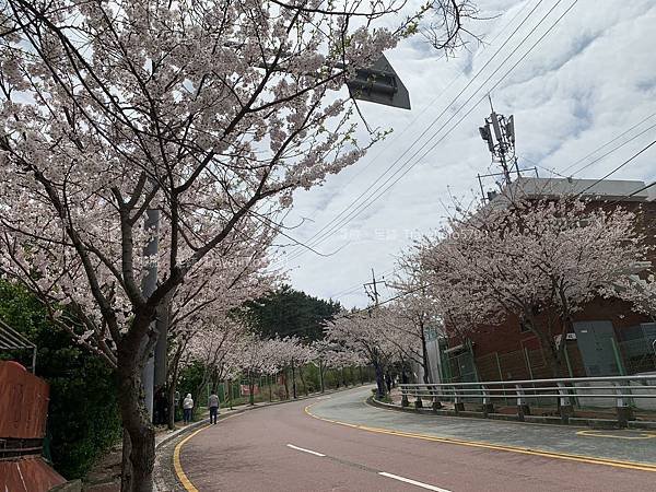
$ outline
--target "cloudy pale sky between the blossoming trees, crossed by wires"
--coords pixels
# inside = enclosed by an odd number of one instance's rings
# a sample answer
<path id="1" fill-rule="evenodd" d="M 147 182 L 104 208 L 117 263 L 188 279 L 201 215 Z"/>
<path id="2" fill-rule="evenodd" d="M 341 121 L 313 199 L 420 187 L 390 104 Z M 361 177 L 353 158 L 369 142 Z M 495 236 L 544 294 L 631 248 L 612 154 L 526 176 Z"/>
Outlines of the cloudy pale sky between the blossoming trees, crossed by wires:
<path id="1" fill-rule="evenodd" d="M 391 280 L 413 239 L 438 229 L 456 201 L 480 199 L 477 174 L 497 171 L 478 132 L 489 92 L 497 113 L 514 115 L 520 167 L 540 177 L 600 178 L 656 139 L 656 2 L 475 2 L 484 19 L 468 28 L 483 43 L 444 58 L 417 36 L 387 51 L 412 109 L 360 103 L 368 126 L 391 134 L 324 186 L 294 196 L 285 234 L 316 251 L 282 241 L 290 246 L 279 265 L 295 289 L 365 306 L 372 269 Z M 656 145 L 612 178 L 654 180 Z M 382 300 L 394 295 L 378 290 Z"/>

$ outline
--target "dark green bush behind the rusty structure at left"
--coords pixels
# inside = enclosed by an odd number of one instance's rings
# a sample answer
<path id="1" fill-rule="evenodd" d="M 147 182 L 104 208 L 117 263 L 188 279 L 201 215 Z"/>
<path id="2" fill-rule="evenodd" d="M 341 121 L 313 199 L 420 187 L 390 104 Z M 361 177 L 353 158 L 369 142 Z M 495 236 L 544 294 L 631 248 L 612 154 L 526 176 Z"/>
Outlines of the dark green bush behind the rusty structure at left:
<path id="1" fill-rule="evenodd" d="M 121 435 L 113 371 L 50 325 L 34 296 L 2 280 L 0 319 L 37 345 L 36 375 L 50 385 L 47 457 L 67 479 L 83 477 Z M 0 359 L 32 364 L 28 351 Z"/>

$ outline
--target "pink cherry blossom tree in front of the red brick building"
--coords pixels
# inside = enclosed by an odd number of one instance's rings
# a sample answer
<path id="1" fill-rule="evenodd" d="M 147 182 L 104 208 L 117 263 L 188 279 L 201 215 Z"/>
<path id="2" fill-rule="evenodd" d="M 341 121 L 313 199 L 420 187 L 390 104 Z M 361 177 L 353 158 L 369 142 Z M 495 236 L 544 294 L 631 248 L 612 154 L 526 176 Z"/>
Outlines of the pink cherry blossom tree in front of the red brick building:
<path id="1" fill-rule="evenodd" d="M 573 315 L 644 260 L 648 247 L 635 224 L 621 208 L 515 197 L 452 221 L 447 237 L 422 255 L 436 283 L 471 306 L 520 319 L 558 377 Z"/>

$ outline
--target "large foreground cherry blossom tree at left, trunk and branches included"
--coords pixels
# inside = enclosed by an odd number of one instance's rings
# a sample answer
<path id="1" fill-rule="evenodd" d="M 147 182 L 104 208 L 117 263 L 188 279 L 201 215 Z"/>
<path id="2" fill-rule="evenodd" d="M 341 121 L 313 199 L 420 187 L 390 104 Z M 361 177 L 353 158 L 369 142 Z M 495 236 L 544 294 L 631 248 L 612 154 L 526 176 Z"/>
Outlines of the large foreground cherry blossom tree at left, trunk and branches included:
<path id="1" fill-rule="evenodd" d="M 1 5 L 0 269 L 116 367 L 122 489 L 150 491 L 140 374 L 157 311 L 214 248 L 364 154 L 333 91 L 440 2 L 391 28 L 373 23 L 400 14 L 396 0 Z"/>

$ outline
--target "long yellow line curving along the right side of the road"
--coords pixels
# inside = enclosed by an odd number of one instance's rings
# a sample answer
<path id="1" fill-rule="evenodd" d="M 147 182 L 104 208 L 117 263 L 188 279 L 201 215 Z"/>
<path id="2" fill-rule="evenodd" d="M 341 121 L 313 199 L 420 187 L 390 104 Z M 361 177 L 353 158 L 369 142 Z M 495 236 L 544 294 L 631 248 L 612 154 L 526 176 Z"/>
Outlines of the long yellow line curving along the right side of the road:
<path id="1" fill-rule="evenodd" d="M 504 452 L 509 452 L 509 453 L 518 453 L 522 455 L 540 456 L 540 457 L 544 457 L 544 458 L 564 459 L 564 460 L 569 460 L 569 461 L 586 462 L 586 464 L 590 464 L 590 465 L 605 465 L 605 466 L 614 467 L 614 468 L 628 468 L 631 470 L 656 472 L 656 465 L 652 465 L 652 464 L 647 464 L 647 462 L 622 461 L 622 460 L 614 460 L 614 459 L 609 459 L 609 458 L 593 458 L 593 457 L 583 456 L 583 455 L 536 450 L 536 449 L 529 449 L 526 447 L 517 447 L 517 446 L 511 446 L 511 445 L 505 445 L 505 444 L 490 444 L 490 443 L 484 443 L 484 442 L 480 442 L 480 441 L 465 441 L 465 440 L 459 440 L 459 438 L 455 438 L 455 437 L 437 437 L 437 436 L 429 435 L 429 434 L 419 434 L 419 433 L 411 433 L 411 432 L 403 432 L 403 431 L 393 431 L 389 429 L 370 427 L 367 425 L 359 425 L 359 424 L 353 424 L 353 423 L 349 423 L 349 422 L 341 422 L 338 420 L 326 419 L 324 417 L 319 417 L 319 415 L 311 412 L 309 409 L 317 403 L 318 402 L 312 403 L 312 405 L 308 405 L 307 407 L 305 407 L 305 413 L 314 419 L 323 420 L 324 422 L 330 422 L 330 423 L 338 424 L 338 425 L 344 425 L 347 427 L 359 429 L 361 431 L 375 432 L 378 434 L 396 435 L 399 437 L 410 437 L 410 438 L 422 440 L 422 441 L 432 441 L 432 442 L 436 442 L 436 443 L 457 444 L 460 446 L 479 447 L 479 448 L 493 449 L 493 450 L 504 450 Z"/>

